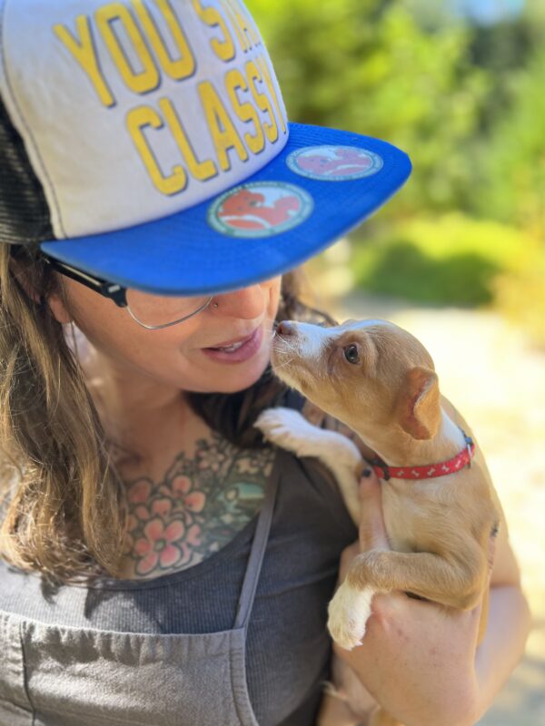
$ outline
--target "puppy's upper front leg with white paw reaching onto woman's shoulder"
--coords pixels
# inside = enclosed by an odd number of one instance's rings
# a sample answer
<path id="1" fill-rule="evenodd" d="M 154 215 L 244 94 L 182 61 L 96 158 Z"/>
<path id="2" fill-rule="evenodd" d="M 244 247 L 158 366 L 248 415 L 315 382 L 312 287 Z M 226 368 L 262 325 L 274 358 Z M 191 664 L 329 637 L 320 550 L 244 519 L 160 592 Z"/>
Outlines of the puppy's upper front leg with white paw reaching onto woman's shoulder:
<path id="1" fill-rule="evenodd" d="M 358 523 L 360 501 L 357 482 L 362 474 L 363 460 L 359 448 L 350 438 L 337 431 L 312 426 L 292 408 L 267 408 L 257 417 L 254 426 L 276 446 L 297 456 L 314 456 L 322 461 L 335 476 L 346 508 L 352 520 Z"/>

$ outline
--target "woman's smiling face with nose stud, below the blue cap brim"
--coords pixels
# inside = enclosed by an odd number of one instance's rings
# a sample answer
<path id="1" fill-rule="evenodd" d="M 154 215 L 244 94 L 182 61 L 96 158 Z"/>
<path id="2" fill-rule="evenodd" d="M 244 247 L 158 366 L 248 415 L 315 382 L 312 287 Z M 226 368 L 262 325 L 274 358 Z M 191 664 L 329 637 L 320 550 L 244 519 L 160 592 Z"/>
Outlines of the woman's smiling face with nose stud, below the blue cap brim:
<path id="1" fill-rule="evenodd" d="M 126 309 L 69 278 L 62 283 L 68 309 L 50 299 L 56 319 L 74 320 L 115 374 L 195 392 L 233 393 L 253 385 L 270 357 L 272 324 L 280 299 L 281 276 L 214 296 L 213 304 L 169 328 L 148 330 Z M 244 351 L 230 357 L 207 351 L 256 332 Z M 240 358 L 246 358 L 241 360 Z"/>

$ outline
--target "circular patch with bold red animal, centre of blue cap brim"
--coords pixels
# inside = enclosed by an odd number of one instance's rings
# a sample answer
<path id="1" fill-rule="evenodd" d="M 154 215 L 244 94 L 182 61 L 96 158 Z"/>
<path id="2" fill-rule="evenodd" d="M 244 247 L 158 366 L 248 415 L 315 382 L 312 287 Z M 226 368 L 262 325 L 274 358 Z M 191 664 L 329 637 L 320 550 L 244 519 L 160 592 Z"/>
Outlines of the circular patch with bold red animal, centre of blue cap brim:
<path id="1" fill-rule="evenodd" d="M 250 182 L 230 189 L 211 204 L 207 220 L 231 237 L 271 237 L 305 221 L 312 197 L 285 182 Z"/>

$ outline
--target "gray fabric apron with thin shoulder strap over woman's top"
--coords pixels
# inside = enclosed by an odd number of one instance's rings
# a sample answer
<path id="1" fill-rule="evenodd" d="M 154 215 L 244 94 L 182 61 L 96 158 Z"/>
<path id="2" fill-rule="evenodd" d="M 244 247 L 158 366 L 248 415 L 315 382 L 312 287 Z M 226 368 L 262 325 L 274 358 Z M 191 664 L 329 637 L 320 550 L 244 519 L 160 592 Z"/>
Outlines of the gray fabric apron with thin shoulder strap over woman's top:
<path id="1" fill-rule="evenodd" d="M 0 726 L 258 726 L 246 632 L 282 471 L 278 451 L 232 630 L 116 633 L 0 613 Z"/>

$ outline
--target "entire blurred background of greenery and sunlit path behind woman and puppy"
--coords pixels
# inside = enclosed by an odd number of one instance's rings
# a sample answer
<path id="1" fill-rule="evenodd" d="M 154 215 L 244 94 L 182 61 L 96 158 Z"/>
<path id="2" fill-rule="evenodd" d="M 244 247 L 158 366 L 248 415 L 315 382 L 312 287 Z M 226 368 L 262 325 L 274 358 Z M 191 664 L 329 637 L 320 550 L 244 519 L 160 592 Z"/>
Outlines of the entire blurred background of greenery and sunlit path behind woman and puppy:
<path id="1" fill-rule="evenodd" d="M 545 0 L 246 0 L 292 121 L 392 142 L 405 188 L 306 265 L 337 319 L 435 359 L 510 525 L 534 628 L 481 721 L 545 723 Z"/>

